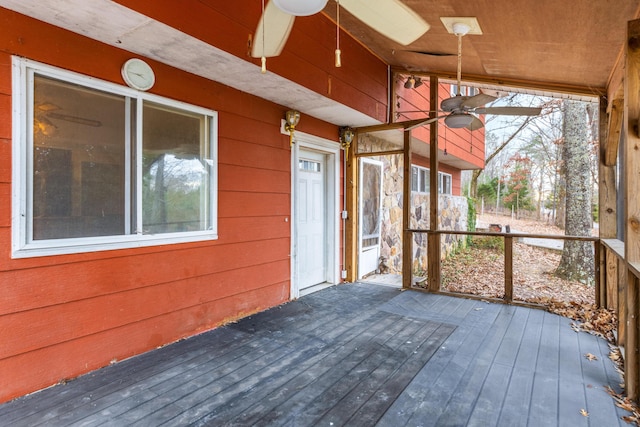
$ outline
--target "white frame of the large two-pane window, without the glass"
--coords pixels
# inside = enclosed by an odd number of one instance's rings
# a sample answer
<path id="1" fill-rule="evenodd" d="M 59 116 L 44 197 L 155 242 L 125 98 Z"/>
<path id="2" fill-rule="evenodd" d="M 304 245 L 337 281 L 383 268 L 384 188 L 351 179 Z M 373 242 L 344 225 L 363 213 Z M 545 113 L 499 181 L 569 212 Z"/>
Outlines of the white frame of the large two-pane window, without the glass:
<path id="1" fill-rule="evenodd" d="M 154 245 L 166 245 L 174 243 L 196 242 L 214 240 L 218 238 L 218 114 L 217 112 L 171 100 L 161 96 L 130 89 L 126 86 L 88 77 L 57 67 L 41 64 L 25 58 L 14 56 L 12 58 L 12 97 L 13 97 L 13 158 L 12 158 L 12 258 L 27 258 L 35 256 L 48 256 L 84 252 L 97 252 L 112 249 L 124 249 L 145 247 Z M 34 74 L 43 75 L 70 83 L 79 84 L 97 90 L 110 92 L 116 95 L 136 99 L 137 106 L 142 108 L 143 102 L 154 102 L 173 108 L 204 115 L 208 123 L 205 130 L 209 140 L 209 158 L 212 166 L 210 174 L 210 197 L 208 215 L 209 227 L 207 230 L 174 232 L 162 234 L 142 234 L 141 231 L 125 230 L 130 234 L 115 236 L 94 236 L 65 239 L 33 240 L 31 236 L 33 227 L 32 214 L 28 212 L 29 201 L 33 197 L 33 82 Z M 139 126 L 138 141 L 141 141 L 141 128 Z M 129 142 L 127 142 L 128 144 Z M 136 144 L 131 141 L 131 144 Z M 130 148 L 130 147 L 127 147 Z M 136 147 L 141 148 L 141 142 Z M 140 157 L 138 153 L 138 157 Z M 130 153 L 127 152 L 127 156 Z M 127 157 L 127 161 L 129 161 Z M 130 173 L 130 172 L 127 172 Z M 141 185 L 137 180 L 138 187 Z M 132 191 L 125 186 L 126 191 Z M 142 197 L 140 188 L 136 190 L 137 197 Z M 140 202 L 140 200 L 139 200 Z M 138 203 L 141 206 L 141 203 Z M 125 207 L 126 209 L 126 207 Z"/>

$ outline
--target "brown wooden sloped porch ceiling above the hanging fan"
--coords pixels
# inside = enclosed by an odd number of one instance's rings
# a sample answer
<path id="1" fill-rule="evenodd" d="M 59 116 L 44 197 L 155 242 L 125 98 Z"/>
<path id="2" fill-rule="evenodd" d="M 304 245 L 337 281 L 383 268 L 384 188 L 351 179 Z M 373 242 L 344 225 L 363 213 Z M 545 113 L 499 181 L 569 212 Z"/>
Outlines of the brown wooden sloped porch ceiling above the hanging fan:
<path id="1" fill-rule="evenodd" d="M 638 17 L 637 0 L 403 0 L 430 25 L 409 46 L 399 45 L 341 12 L 340 24 L 393 67 L 455 78 L 457 38 L 441 17 L 476 17 L 482 35 L 463 37 L 462 75 L 467 80 L 601 95 L 612 79 L 626 40 L 627 22 Z M 335 19 L 330 1 L 324 13 Z"/>

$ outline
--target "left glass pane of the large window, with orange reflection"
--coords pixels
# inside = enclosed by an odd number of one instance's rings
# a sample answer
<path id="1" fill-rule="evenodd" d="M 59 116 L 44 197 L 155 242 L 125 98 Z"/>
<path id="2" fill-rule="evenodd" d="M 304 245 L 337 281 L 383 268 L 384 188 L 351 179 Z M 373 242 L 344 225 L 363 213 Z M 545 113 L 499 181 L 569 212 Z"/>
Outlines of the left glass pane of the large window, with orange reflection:
<path id="1" fill-rule="evenodd" d="M 33 240 L 124 233 L 122 96 L 34 78 Z"/>

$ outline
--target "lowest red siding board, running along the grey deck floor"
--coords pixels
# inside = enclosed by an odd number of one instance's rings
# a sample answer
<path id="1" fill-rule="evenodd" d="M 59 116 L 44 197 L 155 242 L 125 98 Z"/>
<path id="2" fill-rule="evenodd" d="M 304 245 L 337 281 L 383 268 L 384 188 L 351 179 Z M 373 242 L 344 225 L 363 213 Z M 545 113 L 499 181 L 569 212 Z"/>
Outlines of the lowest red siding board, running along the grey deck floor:
<path id="1" fill-rule="evenodd" d="M 234 283 L 237 285 L 237 282 Z M 62 379 L 73 378 L 81 372 L 176 341 L 194 331 L 203 331 L 260 311 L 286 299 L 288 292 L 288 282 L 266 285 L 200 304 L 197 309 L 173 311 L 9 357 L 0 363 L 2 398 L 8 400 L 20 396 Z M 237 308 L 234 315 L 229 314 L 229 307 Z"/>

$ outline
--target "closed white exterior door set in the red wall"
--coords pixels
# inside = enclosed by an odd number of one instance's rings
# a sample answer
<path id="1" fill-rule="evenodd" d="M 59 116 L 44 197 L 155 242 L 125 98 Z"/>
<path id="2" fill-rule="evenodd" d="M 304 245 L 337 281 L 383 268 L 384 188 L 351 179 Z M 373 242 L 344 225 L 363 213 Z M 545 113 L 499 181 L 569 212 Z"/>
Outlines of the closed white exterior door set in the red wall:
<path id="1" fill-rule="evenodd" d="M 326 155 L 300 150 L 297 167 L 296 255 L 302 290 L 327 281 Z"/>

